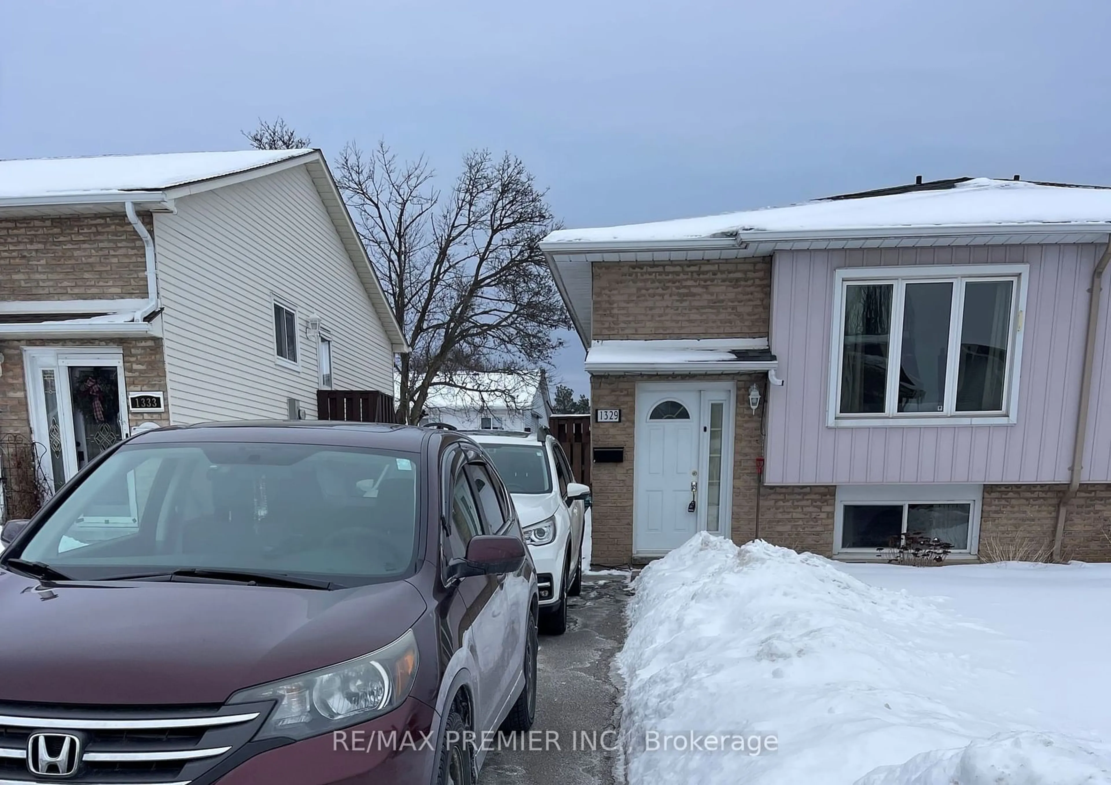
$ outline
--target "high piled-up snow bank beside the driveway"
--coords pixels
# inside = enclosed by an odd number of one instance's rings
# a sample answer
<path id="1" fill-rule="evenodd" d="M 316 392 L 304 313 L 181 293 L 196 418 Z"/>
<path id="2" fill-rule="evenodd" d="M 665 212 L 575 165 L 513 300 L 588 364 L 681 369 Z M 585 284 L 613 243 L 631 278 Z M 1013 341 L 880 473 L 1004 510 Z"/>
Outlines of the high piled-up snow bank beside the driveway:
<path id="1" fill-rule="evenodd" d="M 1072 782 L 1024 761 L 1088 765 L 1097 778 L 1075 782 L 1104 782 L 1103 749 L 998 736 L 1037 717 L 1019 680 L 977 655 L 994 633 L 820 556 L 698 535 L 644 568 L 629 613 L 618 665 L 631 785 Z M 691 734 L 749 741 L 662 748 Z M 1028 778 L 990 778 L 1007 766 Z M 965 772 L 989 778 L 953 779 Z"/>

